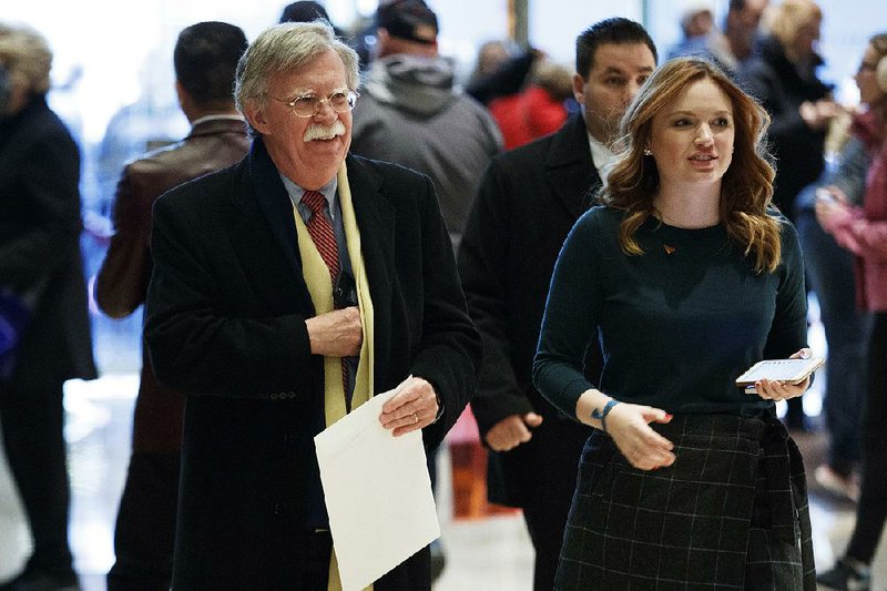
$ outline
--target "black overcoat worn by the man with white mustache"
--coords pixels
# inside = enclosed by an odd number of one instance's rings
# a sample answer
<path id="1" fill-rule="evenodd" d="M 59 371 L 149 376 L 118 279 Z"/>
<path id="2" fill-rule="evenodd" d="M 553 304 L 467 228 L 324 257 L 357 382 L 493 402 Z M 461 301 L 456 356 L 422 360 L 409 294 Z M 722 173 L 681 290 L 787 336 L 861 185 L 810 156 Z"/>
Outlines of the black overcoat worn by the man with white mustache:
<path id="1" fill-rule="evenodd" d="M 427 177 L 346 162 L 375 310 L 374 388 L 430 381 L 445 409 L 424 431 L 434 447 L 481 356 L 447 228 Z M 188 395 L 174 587 L 294 589 L 319 491 L 323 359 L 305 326 L 315 310 L 293 206 L 261 140 L 236 166 L 156 202 L 152 253 L 147 347 L 157 379 Z M 377 583 L 428 588 L 427 549 Z"/>

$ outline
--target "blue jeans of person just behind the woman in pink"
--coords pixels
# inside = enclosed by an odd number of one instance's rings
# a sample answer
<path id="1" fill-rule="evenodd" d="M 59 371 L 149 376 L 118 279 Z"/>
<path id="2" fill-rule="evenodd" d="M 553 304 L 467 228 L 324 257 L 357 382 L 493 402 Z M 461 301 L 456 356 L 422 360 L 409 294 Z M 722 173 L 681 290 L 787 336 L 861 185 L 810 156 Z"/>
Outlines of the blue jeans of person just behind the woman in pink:
<path id="1" fill-rule="evenodd" d="M 826 234 L 813 210 L 797 212 L 797 231 L 810 287 L 828 343 L 825 418 L 828 463 L 848 476 L 861 456 L 868 315 L 856 307 L 853 255 Z"/>

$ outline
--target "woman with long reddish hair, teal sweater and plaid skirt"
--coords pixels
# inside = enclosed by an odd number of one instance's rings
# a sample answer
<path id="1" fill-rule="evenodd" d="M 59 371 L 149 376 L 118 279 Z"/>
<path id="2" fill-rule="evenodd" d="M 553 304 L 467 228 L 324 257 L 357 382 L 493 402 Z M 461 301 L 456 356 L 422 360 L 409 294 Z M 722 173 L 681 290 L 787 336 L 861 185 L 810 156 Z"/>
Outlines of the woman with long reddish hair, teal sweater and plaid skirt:
<path id="1" fill-rule="evenodd" d="M 602 205 L 563 245 L 533 380 L 594 431 L 555 589 L 814 585 L 804 467 L 775 415 L 809 379 L 735 385 L 810 354 L 797 235 L 769 207 L 768 122 L 712 62 L 665 63 L 622 119 Z"/>

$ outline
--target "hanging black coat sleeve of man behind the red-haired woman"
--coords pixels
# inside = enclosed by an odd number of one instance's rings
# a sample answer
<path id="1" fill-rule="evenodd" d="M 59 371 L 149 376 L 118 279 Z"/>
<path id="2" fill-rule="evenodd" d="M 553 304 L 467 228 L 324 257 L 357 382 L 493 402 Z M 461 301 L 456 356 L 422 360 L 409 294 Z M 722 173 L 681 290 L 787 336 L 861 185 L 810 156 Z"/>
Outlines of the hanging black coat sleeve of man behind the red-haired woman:
<path id="1" fill-rule="evenodd" d="M 508 306 L 509 190 L 499 166 L 487 170 L 459 248 L 468 309 L 483 342 L 471 409 L 481 437 L 500 420 L 533 410 L 511 365 Z"/>

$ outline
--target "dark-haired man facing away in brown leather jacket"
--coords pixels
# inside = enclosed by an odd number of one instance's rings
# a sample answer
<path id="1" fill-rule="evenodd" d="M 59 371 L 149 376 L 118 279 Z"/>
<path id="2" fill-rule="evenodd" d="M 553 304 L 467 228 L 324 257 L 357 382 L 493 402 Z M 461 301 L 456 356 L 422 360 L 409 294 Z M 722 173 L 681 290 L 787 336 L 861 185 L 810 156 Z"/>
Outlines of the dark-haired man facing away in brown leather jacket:
<path id="1" fill-rule="evenodd" d="M 246 50 L 243 31 L 225 22 L 200 22 L 179 34 L 173 61 L 179 104 L 191 122 L 181 142 L 129 164 L 118 184 L 115 233 L 99 272 L 95 296 L 113 318 L 145 300 L 151 278 L 151 207 L 170 188 L 230 166 L 249 149 L 246 124 L 231 89 Z M 184 397 L 160 386 L 143 355 L 135 400 L 133 446 L 120 501 L 111 591 L 170 589 L 179 498 Z"/>

